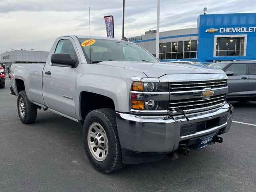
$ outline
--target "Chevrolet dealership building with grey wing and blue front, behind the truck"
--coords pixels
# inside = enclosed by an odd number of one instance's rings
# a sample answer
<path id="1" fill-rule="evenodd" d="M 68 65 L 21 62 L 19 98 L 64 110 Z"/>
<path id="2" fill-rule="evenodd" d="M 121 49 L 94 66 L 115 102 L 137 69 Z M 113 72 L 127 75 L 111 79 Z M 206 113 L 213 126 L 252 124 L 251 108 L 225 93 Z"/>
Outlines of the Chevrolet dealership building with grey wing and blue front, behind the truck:
<path id="1" fill-rule="evenodd" d="M 161 19 L 160 19 L 161 23 Z M 256 59 L 256 13 L 204 14 L 197 27 L 160 32 L 161 61 Z M 128 38 L 156 55 L 156 31 Z"/>

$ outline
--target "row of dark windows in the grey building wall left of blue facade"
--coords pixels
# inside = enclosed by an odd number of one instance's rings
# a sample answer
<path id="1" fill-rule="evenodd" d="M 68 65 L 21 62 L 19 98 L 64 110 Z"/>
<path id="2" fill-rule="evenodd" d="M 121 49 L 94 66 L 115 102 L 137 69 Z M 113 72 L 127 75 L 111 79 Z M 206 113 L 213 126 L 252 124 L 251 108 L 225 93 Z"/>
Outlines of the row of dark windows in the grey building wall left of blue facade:
<path id="1" fill-rule="evenodd" d="M 196 59 L 197 40 L 174 41 L 159 44 L 159 58 Z"/>

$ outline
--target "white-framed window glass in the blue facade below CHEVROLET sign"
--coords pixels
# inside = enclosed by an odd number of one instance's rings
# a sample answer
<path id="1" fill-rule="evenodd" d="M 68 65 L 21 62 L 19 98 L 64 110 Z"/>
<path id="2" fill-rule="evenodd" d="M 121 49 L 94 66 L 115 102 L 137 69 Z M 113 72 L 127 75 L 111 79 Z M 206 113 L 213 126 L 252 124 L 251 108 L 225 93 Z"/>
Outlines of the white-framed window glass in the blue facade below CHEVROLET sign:
<path id="1" fill-rule="evenodd" d="M 217 38 L 216 56 L 244 56 L 244 37 Z"/>

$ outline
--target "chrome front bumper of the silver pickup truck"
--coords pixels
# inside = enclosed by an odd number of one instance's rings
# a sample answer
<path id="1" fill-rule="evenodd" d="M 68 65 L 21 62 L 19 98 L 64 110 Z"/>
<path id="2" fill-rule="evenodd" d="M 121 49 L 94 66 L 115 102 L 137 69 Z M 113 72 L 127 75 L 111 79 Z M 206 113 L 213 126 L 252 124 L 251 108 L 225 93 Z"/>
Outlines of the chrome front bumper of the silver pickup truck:
<path id="1" fill-rule="evenodd" d="M 187 117 L 189 120 L 182 115 L 140 116 L 117 112 L 116 123 L 123 162 L 134 164 L 160 160 L 180 146 L 192 144 L 198 137 L 227 132 L 232 123 L 232 111 L 228 103 L 213 110 L 187 114 Z M 222 119 L 222 122 L 200 128 L 200 124 L 209 124 L 209 120 L 213 119 L 216 122 Z M 197 124 L 199 128 L 196 132 L 186 132 L 190 125 Z"/>

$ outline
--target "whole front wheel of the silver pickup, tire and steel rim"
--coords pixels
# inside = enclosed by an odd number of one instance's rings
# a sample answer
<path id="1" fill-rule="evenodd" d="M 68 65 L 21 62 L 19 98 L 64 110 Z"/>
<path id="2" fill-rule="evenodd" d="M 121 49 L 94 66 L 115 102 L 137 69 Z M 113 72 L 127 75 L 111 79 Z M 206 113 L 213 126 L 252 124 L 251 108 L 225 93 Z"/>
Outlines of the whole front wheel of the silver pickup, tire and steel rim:
<path id="1" fill-rule="evenodd" d="M 114 110 L 97 109 L 86 116 L 83 142 L 86 155 L 97 170 L 110 173 L 124 166 Z"/>

